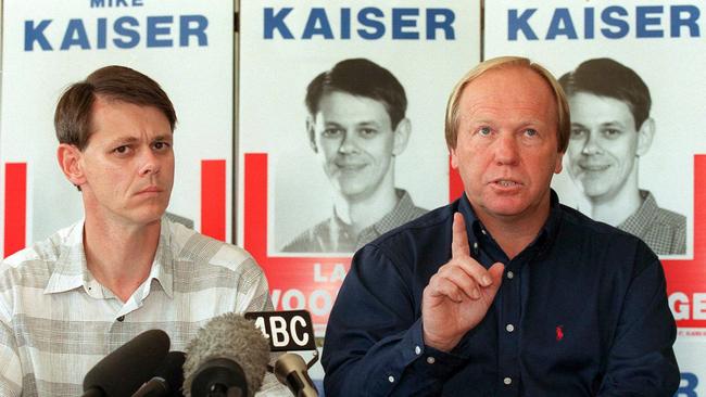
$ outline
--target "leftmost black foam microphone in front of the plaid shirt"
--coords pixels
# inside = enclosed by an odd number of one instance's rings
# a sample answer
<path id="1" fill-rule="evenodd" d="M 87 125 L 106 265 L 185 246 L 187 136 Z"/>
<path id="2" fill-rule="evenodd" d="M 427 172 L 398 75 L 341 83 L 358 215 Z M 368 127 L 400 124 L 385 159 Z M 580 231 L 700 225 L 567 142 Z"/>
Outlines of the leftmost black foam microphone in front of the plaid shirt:
<path id="1" fill-rule="evenodd" d="M 154 373 L 167 351 L 169 336 L 149 330 L 100 360 L 84 377 L 84 397 L 129 396 Z"/>

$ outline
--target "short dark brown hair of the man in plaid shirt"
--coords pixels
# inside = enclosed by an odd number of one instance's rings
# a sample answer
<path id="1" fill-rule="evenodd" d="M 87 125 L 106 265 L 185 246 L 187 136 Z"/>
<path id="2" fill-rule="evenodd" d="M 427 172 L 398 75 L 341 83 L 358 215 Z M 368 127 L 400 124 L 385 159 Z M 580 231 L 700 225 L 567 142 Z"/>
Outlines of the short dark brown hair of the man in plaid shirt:
<path id="1" fill-rule="evenodd" d="M 86 149 L 90 138 L 91 107 L 96 98 L 159 108 L 169 120 L 172 131 L 176 112 L 160 85 L 148 76 L 125 66 L 105 66 L 91 73 L 86 80 L 71 85 L 59 99 L 54 112 L 54 128 L 60 143 Z"/>

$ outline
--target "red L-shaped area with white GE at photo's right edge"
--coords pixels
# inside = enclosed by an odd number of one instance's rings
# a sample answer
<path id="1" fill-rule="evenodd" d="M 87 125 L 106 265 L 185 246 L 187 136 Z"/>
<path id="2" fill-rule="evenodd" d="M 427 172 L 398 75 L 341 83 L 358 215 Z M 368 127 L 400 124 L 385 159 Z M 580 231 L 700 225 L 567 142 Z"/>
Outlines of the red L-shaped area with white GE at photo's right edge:
<path id="1" fill-rule="evenodd" d="M 694 259 L 663 260 L 669 306 L 680 328 L 706 328 L 706 155 L 694 156 Z"/>

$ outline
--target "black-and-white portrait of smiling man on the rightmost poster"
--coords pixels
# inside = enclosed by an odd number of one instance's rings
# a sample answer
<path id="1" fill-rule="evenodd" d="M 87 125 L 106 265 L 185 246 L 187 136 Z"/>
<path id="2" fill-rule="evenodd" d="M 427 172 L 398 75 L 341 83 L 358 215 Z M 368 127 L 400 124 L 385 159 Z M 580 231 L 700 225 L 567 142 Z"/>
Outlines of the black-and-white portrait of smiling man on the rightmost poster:
<path id="1" fill-rule="evenodd" d="M 631 65 L 592 57 L 559 84 L 571 114 L 564 164 L 581 196 L 579 209 L 639 236 L 657 255 L 684 255 L 686 217 L 660 207 L 660 192 L 640 181 L 641 158 L 659 152 L 653 148 L 659 131 L 646 82 Z"/>

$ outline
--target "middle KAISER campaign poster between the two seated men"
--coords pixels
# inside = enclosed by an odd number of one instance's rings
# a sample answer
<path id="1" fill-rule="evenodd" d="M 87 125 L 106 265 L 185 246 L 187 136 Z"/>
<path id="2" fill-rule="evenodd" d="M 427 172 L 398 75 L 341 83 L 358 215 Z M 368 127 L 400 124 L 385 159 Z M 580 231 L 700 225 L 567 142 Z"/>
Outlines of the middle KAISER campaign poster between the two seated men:
<path id="1" fill-rule="evenodd" d="M 240 3 L 238 242 L 317 335 L 353 252 L 449 203 L 444 112 L 479 21 L 478 1 Z"/>

